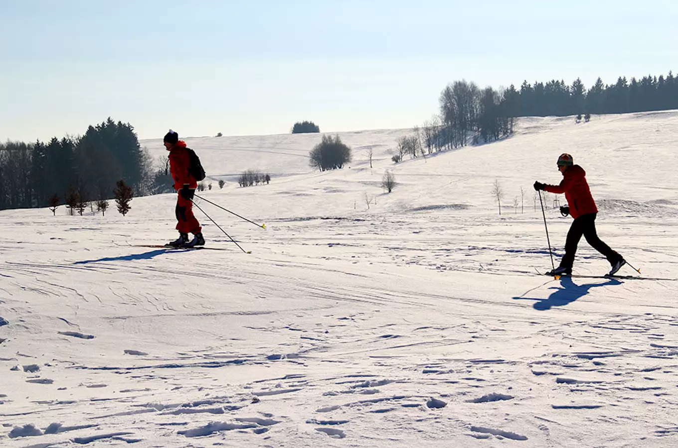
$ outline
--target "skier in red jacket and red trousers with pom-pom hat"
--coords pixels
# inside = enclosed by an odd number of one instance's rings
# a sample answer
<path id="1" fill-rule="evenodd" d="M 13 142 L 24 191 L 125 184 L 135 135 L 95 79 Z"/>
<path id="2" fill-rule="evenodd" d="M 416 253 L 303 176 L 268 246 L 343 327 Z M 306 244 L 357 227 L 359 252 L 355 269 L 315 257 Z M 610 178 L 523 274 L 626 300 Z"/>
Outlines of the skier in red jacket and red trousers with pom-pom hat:
<path id="1" fill-rule="evenodd" d="M 169 171 L 174 179 L 174 189 L 178 192 L 176 200 L 176 229 L 179 231 L 179 238 L 173 242 L 167 243 L 167 246 L 174 247 L 195 247 L 204 246 L 202 227 L 193 215 L 193 196 L 198 182 L 191 175 L 189 170 L 191 158 L 186 151 L 186 142 L 179 139 L 178 133 L 169 129 L 165 135 L 163 143 L 169 151 Z M 188 241 L 188 233 L 193 233 L 193 240 Z"/>

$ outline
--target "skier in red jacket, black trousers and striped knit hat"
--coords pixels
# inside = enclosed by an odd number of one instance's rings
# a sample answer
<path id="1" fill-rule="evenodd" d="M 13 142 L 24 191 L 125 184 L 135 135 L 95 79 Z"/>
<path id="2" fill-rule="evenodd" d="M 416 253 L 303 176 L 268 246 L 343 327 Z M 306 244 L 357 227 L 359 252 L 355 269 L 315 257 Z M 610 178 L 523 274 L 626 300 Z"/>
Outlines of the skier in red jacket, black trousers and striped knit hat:
<path id="1" fill-rule="evenodd" d="M 608 275 L 614 275 L 622 266 L 626 264 L 624 257 L 615 252 L 598 238 L 595 230 L 595 217 L 598 208 L 595 206 L 591 189 L 586 183 L 586 172 L 581 166 L 573 164 L 570 154 L 561 154 L 558 158 L 558 169 L 563 175 L 560 185 L 546 185 L 536 181 L 534 189 L 544 190 L 551 193 L 565 193 L 567 206 L 562 206 L 560 212 L 563 216 L 572 215 L 574 221 L 570 231 L 567 232 L 565 240 L 565 256 L 560 261 L 560 266 L 548 272 L 548 275 L 571 275 L 572 264 L 574 263 L 574 254 L 577 252 L 579 240 L 586 238 L 586 241 L 593 246 L 595 250 L 605 255 L 607 261 L 612 265 Z"/>

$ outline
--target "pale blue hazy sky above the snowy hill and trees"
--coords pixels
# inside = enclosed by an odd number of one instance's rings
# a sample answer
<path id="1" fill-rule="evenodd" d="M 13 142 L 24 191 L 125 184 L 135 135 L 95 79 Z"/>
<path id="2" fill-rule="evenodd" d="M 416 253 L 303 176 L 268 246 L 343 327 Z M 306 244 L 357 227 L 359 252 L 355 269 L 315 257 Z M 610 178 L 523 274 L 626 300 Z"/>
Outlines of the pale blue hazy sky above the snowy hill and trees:
<path id="1" fill-rule="evenodd" d="M 676 0 L 0 0 L 0 141 L 403 128 L 458 79 L 669 70 Z"/>

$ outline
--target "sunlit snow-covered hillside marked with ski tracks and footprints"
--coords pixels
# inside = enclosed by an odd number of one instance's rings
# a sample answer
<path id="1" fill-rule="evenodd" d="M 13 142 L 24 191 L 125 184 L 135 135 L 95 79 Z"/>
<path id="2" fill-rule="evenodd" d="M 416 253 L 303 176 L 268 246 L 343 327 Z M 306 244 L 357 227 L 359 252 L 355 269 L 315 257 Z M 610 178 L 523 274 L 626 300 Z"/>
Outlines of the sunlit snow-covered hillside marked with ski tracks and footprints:
<path id="1" fill-rule="evenodd" d="M 174 194 L 126 217 L 0 212 L 0 445 L 678 445 L 678 112 L 525 118 L 394 165 L 407 132 L 340 133 L 354 160 L 325 173 L 317 134 L 186 139 L 214 179 L 201 196 L 266 224 L 197 201 L 252 254 L 199 211 L 223 250 L 128 246 L 176 238 Z M 561 152 L 603 241 L 652 279 L 536 274 L 532 183 L 560 181 Z M 273 180 L 240 188 L 245 169 Z M 571 219 L 554 198 L 557 263 Z M 576 273 L 607 269 L 582 240 Z"/>

